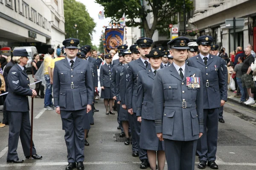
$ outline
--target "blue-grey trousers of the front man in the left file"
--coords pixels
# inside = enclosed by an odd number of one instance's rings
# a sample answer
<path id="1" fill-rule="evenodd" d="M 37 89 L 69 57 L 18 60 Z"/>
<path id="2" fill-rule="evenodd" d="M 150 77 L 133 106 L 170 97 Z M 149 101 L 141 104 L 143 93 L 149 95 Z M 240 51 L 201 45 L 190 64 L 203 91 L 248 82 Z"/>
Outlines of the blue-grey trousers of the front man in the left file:
<path id="1" fill-rule="evenodd" d="M 84 161 L 84 114 L 86 109 L 61 111 L 68 162 Z"/>

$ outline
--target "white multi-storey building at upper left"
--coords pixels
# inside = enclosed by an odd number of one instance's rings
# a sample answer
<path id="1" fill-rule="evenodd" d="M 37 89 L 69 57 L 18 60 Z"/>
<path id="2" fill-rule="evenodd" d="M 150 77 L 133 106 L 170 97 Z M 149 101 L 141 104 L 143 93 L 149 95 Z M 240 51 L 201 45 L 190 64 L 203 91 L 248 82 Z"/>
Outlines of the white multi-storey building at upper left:
<path id="1" fill-rule="evenodd" d="M 0 0 L 0 48 L 36 46 L 47 53 L 65 39 L 63 0 Z"/>

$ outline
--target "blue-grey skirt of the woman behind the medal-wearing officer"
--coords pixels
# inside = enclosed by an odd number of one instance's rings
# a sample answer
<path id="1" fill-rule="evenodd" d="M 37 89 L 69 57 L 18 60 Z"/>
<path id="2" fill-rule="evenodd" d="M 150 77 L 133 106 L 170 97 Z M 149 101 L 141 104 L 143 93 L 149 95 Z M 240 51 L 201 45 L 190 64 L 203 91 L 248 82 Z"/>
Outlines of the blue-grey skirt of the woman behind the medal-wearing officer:
<path id="1" fill-rule="evenodd" d="M 160 141 L 157 137 L 154 120 L 141 120 L 140 148 L 145 150 L 164 150 L 163 141 Z"/>

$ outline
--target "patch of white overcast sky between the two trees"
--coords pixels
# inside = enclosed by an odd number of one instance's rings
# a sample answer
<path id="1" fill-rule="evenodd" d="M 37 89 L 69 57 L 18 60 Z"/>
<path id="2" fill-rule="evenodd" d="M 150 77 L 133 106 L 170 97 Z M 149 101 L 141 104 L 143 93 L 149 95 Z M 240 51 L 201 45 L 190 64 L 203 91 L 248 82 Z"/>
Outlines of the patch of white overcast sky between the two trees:
<path id="1" fill-rule="evenodd" d="M 93 45 L 99 45 L 99 39 L 101 36 L 101 32 L 103 30 L 102 26 L 108 26 L 110 22 L 110 18 L 105 18 L 104 20 L 99 20 L 98 14 L 99 11 L 102 11 L 103 7 L 100 6 L 98 3 L 95 3 L 94 0 L 77 0 L 83 3 L 86 6 L 90 17 L 93 18 L 94 22 L 96 23 L 96 27 L 94 28 L 95 32 L 93 33 Z"/>

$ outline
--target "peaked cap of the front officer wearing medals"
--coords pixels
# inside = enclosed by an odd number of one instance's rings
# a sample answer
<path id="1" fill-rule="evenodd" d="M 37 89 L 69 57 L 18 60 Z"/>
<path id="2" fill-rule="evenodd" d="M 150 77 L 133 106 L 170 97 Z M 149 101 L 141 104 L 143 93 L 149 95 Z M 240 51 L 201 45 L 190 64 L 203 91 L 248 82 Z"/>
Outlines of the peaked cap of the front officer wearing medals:
<path id="1" fill-rule="evenodd" d="M 188 37 L 177 37 L 172 41 L 169 41 L 167 45 L 170 45 L 170 48 L 175 49 L 189 49 L 188 43 L 190 42 Z"/>

